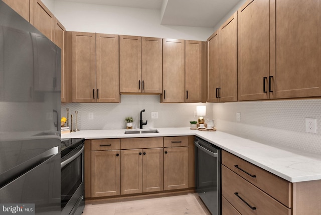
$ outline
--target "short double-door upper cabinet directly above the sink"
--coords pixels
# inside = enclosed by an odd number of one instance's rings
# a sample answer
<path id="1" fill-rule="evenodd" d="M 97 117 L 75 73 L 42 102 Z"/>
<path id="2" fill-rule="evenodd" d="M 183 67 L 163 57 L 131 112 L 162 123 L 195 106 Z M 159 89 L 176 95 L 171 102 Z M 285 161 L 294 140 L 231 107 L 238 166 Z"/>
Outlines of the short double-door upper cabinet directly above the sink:
<path id="1" fill-rule="evenodd" d="M 120 93 L 162 93 L 161 38 L 119 36 Z"/>

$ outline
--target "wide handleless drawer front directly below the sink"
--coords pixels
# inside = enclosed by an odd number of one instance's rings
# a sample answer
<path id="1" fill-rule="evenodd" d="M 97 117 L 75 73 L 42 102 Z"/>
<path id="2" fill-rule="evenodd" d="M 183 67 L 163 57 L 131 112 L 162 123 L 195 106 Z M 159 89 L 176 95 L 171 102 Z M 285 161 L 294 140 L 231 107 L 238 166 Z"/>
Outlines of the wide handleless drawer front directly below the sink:
<path id="1" fill-rule="evenodd" d="M 123 138 L 120 139 L 120 149 L 163 148 L 163 137 Z"/>

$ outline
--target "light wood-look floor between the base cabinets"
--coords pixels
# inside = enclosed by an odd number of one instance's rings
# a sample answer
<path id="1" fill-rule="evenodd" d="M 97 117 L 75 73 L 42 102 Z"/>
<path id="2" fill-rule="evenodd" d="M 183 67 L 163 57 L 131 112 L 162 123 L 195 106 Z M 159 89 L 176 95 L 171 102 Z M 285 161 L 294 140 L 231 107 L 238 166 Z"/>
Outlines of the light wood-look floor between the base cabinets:
<path id="1" fill-rule="evenodd" d="M 196 193 L 86 202 L 83 215 L 210 215 Z"/>

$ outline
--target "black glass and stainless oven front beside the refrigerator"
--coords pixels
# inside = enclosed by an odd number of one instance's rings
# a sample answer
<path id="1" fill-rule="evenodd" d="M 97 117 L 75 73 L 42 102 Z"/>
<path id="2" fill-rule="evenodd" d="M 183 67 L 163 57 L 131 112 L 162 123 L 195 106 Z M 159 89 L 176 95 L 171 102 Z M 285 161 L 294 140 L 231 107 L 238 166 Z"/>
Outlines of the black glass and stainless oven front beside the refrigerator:
<path id="1" fill-rule="evenodd" d="M 84 144 L 61 158 L 61 214 L 81 214 L 84 198 Z"/>

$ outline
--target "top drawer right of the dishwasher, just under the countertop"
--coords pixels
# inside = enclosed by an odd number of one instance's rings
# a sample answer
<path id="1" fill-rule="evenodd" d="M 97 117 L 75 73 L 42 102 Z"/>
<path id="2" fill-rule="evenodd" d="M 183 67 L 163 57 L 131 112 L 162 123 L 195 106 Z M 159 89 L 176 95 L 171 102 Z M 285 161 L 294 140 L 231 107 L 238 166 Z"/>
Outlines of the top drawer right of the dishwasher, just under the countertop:
<path id="1" fill-rule="evenodd" d="M 290 182 L 224 150 L 222 150 L 222 164 L 285 206 L 292 207 L 292 189 Z"/>

